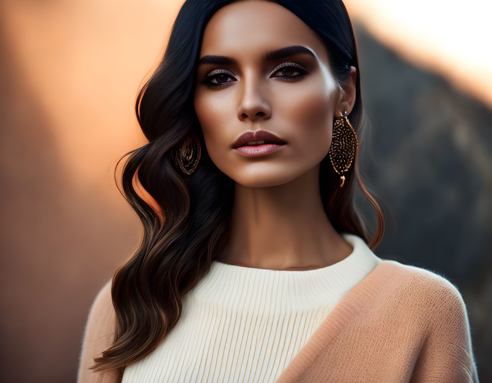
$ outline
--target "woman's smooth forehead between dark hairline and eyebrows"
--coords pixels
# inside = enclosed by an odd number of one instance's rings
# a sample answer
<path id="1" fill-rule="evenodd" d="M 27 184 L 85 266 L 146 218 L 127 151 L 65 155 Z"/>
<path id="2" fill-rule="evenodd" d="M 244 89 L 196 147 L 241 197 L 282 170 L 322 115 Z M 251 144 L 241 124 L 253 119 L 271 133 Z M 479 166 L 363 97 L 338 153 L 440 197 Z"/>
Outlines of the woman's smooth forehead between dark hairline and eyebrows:
<path id="1" fill-rule="evenodd" d="M 205 27 L 200 57 L 227 55 L 240 60 L 257 59 L 267 50 L 302 45 L 318 60 L 326 61 L 319 36 L 294 13 L 264 0 L 242 0 L 215 12 Z"/>

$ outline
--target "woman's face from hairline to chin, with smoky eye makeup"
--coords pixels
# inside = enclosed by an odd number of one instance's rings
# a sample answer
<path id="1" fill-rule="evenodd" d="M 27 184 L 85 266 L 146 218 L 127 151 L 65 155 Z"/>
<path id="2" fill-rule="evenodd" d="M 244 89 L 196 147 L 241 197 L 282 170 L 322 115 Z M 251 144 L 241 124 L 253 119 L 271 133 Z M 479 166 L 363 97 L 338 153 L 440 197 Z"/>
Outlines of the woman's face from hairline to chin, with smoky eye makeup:
<path id="1" fill-rule="evenodd" d="M 291 46 L 304 49 L 265 58 Z M 205 28 L 200 59 L 209 55 L 230 59 L 199 64 L 194 107 L 210 158 L 223 173 L 247 187 L 274 186 L 323 160 L 339 112 L 339 88 L 326 47 L 301 19 L 274 2 L 228 4 Z M 255 157 L 233 149 L 241 134 L 257 130 L 285 144 Z"/>

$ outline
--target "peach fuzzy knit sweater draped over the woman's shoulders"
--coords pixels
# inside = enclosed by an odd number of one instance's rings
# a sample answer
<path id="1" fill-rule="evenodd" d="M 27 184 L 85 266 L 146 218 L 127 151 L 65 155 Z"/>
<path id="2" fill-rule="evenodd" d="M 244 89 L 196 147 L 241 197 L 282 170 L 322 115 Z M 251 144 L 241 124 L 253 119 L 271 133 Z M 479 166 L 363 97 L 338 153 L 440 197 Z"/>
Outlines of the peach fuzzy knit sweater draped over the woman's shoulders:
<path id="1" fill-rule="evenodd" d="M 96 297 L 81 368 L 112 344 L 111 285 Z M 79 383 L 120 383 L 123 370 L 79 374 Z M 447 279 L 384 260 L 349 290 L 290 361 L 278 383 L 478 382 L 466 306 Z"/>

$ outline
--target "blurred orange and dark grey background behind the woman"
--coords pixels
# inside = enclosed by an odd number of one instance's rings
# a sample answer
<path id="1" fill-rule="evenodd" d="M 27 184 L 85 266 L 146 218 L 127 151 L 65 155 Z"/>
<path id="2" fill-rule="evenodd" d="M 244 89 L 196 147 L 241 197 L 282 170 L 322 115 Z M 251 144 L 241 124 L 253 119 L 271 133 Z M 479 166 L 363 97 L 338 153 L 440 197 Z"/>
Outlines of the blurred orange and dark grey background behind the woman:
<path id="1" fill-rule="evenodd" d="M 92 301 L 140 239 L 112 174 L 146 143 L 135 97 L 182 3 L 0 1 L 2 382 L 76 380 Z M 375 253 L 460 289 L 492 382 L 491 2 L 345 4 L 365 170 L 395 213 Z"/>

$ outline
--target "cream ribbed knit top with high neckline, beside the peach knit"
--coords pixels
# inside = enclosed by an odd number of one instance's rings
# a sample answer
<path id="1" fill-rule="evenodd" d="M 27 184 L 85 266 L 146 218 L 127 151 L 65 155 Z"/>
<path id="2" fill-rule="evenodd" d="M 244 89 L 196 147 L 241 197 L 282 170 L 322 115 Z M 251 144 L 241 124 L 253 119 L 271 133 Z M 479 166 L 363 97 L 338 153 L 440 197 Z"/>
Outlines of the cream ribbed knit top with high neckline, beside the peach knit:
<path id="1" fill-rule="evenodd" d="M 271 270 L 213 261 L 183 297 L 159 346 L 125 367 L 122 383 L 275 382 L 338 301 L 383 259 L 362 238 L 314 270 Z"/>

